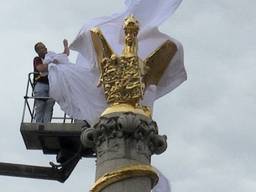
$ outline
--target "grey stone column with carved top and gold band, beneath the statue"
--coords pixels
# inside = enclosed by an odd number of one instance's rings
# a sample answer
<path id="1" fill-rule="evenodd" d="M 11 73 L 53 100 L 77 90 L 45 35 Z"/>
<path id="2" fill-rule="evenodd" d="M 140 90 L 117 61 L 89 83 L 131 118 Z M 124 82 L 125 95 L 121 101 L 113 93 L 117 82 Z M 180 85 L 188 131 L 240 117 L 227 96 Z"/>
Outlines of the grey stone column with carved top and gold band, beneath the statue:
<path id="1" fill-rule="evenodd" d="M 150 192 L 158 181 L 151 155 L 167 148 L 166 136 L 144 115 L 112 113 L 81 135 L 97 154 L 96 182 L 91 192 Z"/>

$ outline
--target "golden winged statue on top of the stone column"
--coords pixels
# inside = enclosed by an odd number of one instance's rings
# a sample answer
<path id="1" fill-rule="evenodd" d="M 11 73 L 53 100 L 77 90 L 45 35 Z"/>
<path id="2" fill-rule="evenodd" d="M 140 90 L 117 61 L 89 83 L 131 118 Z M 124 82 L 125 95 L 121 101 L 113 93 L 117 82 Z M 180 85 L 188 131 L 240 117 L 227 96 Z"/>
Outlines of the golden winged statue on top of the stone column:
<path id="1" fill-rule="evenodd" d="M 125 39 L 120 57 L 113 52 L 99 28 L 91 30 L 100 69 L 99 86 L 103 86 L 109 105 L 102 115 L 130 111 L 150 117 L 150 109 L 140 105 L 140 100 L 147 86 L 158 84 L 177 47 L 167 40 L 142 61 L 138 56 L 138 21 L 129 16 L 123 28 Z"/>

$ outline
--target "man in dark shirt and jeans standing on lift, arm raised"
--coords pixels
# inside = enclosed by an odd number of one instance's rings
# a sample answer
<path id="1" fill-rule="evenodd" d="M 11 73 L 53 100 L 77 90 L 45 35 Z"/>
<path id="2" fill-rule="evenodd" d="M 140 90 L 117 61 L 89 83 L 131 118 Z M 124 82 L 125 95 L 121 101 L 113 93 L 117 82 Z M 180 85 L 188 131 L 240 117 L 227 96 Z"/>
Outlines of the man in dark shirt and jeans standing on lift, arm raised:
<path id="1" fill-rule="evenodd" d="M 64 54 L 69 55 L 68 41 L 63 40 Z M 52 119 L 53 106 L 55 101 L 49 98 L 49 80 L 48 80 L 48 65 L 50 63 L 57 64 L 58 61 L 45 59 L 48 53 L 46 46 L 42 42 L 35 44 L 35 51 L 38 54 L 34 58 L 34 96 L 35 99 L 35 121 L 37 123 L 48 123 Z"/>

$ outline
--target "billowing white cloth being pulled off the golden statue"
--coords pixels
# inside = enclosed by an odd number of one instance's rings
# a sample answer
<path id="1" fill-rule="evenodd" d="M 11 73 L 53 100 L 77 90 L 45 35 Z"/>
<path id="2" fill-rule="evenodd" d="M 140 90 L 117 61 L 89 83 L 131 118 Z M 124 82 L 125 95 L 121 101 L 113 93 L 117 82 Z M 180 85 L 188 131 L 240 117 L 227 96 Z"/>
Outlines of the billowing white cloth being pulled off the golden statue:
<path id="1" fill-rule="evenodd" d="M 158 31 L 158 26 L 173 14 L 181 1 L 126 0 L 126 9 L 122 13 L 89 20 L 70 46 L 79 52 L 76 64 L 49 67 L 50 96 L 71 117 L 85 119 L 90 123 L 97 120 L 106 107 L 106 100 L 102 88 L 96 87 L 99 71 L 89 30 L 99 27 L 113 51 L 120 55 L 124 41 L 124 19 L 128 15 L 134 15 L 140 23 L 138 54 L 141 59 L 148 57 L 167 39 L 173 41 L 178 48 L 157 87 L 150 86 L 145 92 L 142 103 L 152 106 L 157 98 L 186 80 L 182 45 Z"/>

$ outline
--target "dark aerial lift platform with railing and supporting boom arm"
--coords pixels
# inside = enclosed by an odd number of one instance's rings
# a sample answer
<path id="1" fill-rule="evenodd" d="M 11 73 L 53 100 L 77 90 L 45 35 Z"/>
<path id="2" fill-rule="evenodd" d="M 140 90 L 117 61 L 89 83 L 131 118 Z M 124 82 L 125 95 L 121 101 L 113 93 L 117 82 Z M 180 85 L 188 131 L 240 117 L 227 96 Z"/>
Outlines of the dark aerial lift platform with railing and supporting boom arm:
<path id="1" fill-rule="evenodd" d="M 34 75 L 35 72 L 28 74 L 20 132 L 28 150 L 56 155 L 56 163 L 50 162 L 49 167 L 0 163 L 0 175 L 65 182 L 82 157 L 96 157 L 95 151 L 82 147 L 80 141 L 82 131 L 90 125 L 85 120 L 74 120 L 66 114 L 60 117 L 53 115 L 50 123 L 36 123 L 35 99 L 49 98 L 34 96 Z"/>

